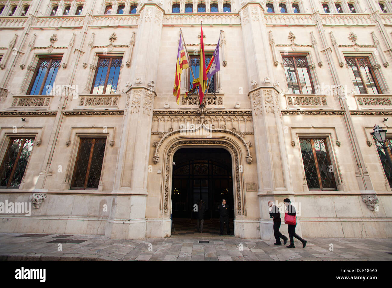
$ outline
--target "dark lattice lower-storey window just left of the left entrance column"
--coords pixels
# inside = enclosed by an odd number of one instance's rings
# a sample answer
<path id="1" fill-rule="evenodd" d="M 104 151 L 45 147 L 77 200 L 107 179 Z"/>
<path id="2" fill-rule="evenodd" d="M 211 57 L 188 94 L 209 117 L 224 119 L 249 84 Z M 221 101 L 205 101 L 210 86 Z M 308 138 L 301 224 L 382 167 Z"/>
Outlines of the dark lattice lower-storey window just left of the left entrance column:
<path id="1" fill-rule="evenodd" d="M 105 145 L 106 138 L 80 138 L 71 189 L 98 189 Z"/>

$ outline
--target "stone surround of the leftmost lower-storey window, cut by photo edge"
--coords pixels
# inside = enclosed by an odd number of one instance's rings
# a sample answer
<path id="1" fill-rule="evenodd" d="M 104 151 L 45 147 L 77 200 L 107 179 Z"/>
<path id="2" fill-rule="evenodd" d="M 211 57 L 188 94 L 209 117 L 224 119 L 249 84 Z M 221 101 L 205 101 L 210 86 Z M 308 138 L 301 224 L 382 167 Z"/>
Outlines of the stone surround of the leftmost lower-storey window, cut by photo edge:
<path id="1" fill-rule="evenodd" d="M 22 180 L 20 182 L 20 185 L 18 188 L 0 188 L 0 190 L 5 191 L 12 191 L 12 190 L 22 190 L 24 187 L 24 178 L 26 176 L 27 171 L 29 170 L 30 161 L 32 155 L 34 154 L 34 150 L 36 150 L 36 146 L 39 146 L 38 141 L 41 141 L 41 136 L 43 133 L 43 128 L 42 127 L 16 127 L 17 133 L 13 133 L 13 127 L 3 127 L 2 130 L 4 131 L 4 134 L 2 136 L 1 144 L 0 144 L 0 164 L 2 163 L 5 152 L 7 152 L 7 148 L 9 145 L 9 141 L 11 138 L 34 138 L 34 144 L 33 144 L 33 149 L 31 150 L 31 154 L 29 156 L 29 161 L 27 162 L 26 168 L 25 168 L 25 173 L 22 177 Z M 39 142 L 40 143 L 40 142 Z M 35 164 L 35 163 L 34 163 Z M 34 165 L 32 164 L 32 165 Z"/>

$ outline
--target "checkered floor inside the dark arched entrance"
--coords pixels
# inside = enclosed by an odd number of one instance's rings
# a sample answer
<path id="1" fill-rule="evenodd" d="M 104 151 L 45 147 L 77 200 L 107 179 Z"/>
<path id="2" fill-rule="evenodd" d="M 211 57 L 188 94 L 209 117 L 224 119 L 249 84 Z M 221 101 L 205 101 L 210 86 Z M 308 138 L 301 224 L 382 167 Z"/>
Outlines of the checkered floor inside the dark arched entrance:
<path id="1" fill-rule="evenodd" d="M 203 233 L 198 232 L 196 219 L 174 218 L 172 222 L 172 235 L 219 235 L 219 219 L 205 219 Z M 234 223 L 229 219 L 230 232 L 234 233 Z M 223 229 L 223 235 L 227 235 L 226 226 Z"/>

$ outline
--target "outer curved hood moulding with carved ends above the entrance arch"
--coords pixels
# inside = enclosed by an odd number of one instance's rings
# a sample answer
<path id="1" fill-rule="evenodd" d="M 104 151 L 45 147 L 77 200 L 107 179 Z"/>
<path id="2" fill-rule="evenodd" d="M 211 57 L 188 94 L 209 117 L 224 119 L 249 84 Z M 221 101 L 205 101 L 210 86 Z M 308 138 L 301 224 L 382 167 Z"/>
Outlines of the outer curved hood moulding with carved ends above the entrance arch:
<path id="1" fill-rule="evenodd" d="M 152 157 L 152 161 L 154 162 L 154 164 L 158 164 L 159 163 L 159 149 L 162 146 L 162 143 L 169 138 L 169 136 L 172 136 L 174 134 L 178 134 L 178 133 L 185 133 L 185 134 L 191 134 L 191 133 L 196 133 L 198 131 L 200 131 L 201 129 L 204 129 L 206 134 L 202 134 L 204 136 L 208 136 L 207 133 L 214 133 L 214 132 L 223 132 L 223 133 L 227 133 L 230 135 L 235 136 L 237 139 L 239 139 L 241 141 L 241 143 L 245 146 L 246 152 L 247 152 L 247 156 L 246 156 L 246 161 L 248 164 L 251 164 L 253 161 L 252 155 L 250 154 L 250 149 L 249 147 L 252 145 L 252 143 L 250 141 L 245 142 L 245 139 L 238 134 L 237 132 L 235 132 L 234 130 L 229 130 L 229 129 L 224 129 L 223 127 L 220 129 L 216 129 L 214 128 L 214 126 L 212 125 L 212 127 L 207 127 L 204 123 L 201 123 L 198 127 L 195 127 L 194 124 L 189 125 L 189 127 L 185 128 L 185 125 L 181 124 L 180 125 L 180 129 L 177 130 L 173 130 L 172 128 L 169 129 L 169 132 L 167 132 L 166 134 L 164 132 L 162 132 L 160 134 L 160 138 L 161 140 L 159 142 L 155 141 L 152 145 L 155 147 L 155 153 L 154 156 Z M 198 134 L 200 135 L 200 133 Z M 212 137 L 212 136 L 211 136 Z"/>

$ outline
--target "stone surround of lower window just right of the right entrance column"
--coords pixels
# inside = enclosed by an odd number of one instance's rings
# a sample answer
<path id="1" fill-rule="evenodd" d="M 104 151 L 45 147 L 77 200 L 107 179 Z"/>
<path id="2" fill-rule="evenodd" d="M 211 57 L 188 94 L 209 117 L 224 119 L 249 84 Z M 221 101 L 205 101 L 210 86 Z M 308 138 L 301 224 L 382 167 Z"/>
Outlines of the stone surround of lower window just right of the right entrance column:
<path id="1" fill-rule="evenodd" d="M 299 130 L 298 132 L 295 132 L 295 130 Z M 325 132 L 321 132 L 320 130 L 323 129 Z M 313 131 L 310 131 L 313 130 Z M 292 142 L 296 142 L 298 143 L 298 147 L 297 147 L 297 151 L 298 151 L 298 156 L 299 157 L 297 159 L 299 159 L 300 163 L 301 163 L 301 171 L 302 171 L 302 175 L 303 175 L 303 190 L 304 192 L 328 192 L 328 191 L 344 191 L 345 190 L 345 184 L 341 183 L 341 179 L 342 179 L 342 173 L 340 170 L 340 166 L 339 166 L 339 162 L 338 162 L 338 158 L 336 156 L 336 151 L 335 151 L 335 145 L 333 145 L 332 143 L 339 143 L 340 146 L 340 141 L 338 141 L 338 136 L 336 133 L 336 128 L 335 127 L 291 127 L 291 133 L 292 133 L 292 139 L 295 139 L 295 141 Z M 295 134 L 295 136 L 293 136 L 293 134 Z M 336 138 L 334 138 L 334 136 Z M 307 185 L 307 181 L 306 181 L 306 175 L 305 175 L 305 166 L 303 164 L 303 158 L 302 158 L 302 152 L 301 152 L 301 145 L 299 140 L 302 138 L 324 138 L 325 139 L 325 144 L 326 147 L 328 149 L 328 154 L 329 154 L 329 160 L 330 160 L 330 165 L 332 165 L 332 167 L 334 167 L 334 180 L 335 180 L 335 185 L 336 185 L 336 189 L 312 189 L 309 190 L 309 186 Z M 338 144 L 337 144 L 338 145 Z M 294 146 L 295 147 L 295 146 Z M 339 181 L 340 180 L 340 181 Z"/>

